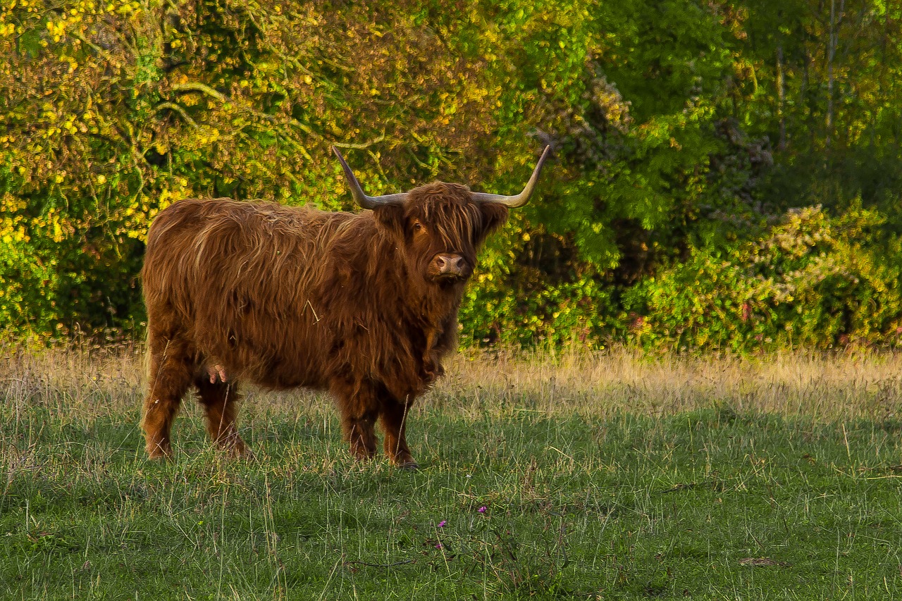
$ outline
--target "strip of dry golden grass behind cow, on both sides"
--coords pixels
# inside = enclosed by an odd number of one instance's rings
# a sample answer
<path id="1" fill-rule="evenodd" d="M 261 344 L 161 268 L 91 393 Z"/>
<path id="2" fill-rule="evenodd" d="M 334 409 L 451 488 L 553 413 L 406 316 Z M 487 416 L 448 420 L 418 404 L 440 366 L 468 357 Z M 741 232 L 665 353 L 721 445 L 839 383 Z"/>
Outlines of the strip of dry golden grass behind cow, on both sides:
<path id="1" fill-rule="evenodd" d="M 70 418 L 138 411 L 144 387 L 140 346 L 41 353 L 0 351 L 6 411 L 41 403 Z M 902 357 L 859 352 L 769 356 L 647 356 L 630 349 L 560 354 L 468 351 L 419 411 L 465 417 L 535 411 L 548 416 L 660 416 L 726 406 L 816 420 L 893 419 L 902 398 Z M 248 389 L 247 409 L 274 417 L 331 411 L 323 394 Z M 193 403 L 186 403 L 193 404 Z"/>

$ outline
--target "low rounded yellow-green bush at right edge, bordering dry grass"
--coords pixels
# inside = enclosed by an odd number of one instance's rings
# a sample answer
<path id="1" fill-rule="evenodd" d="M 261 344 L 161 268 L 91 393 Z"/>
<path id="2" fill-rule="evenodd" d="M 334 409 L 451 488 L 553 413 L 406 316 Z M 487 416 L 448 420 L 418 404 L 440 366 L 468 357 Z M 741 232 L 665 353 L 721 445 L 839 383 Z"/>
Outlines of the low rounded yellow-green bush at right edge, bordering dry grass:
<path id="1" fill-rule="evenodd" d="M 646 316 L 631 333 L 646 347 L 895 346 L 902 248 L 895 236 L 875 244 L 884 222 L 860 205 L 839 217 L 805 208 L 761 240 L 694 248 L 630 291 Z"/>

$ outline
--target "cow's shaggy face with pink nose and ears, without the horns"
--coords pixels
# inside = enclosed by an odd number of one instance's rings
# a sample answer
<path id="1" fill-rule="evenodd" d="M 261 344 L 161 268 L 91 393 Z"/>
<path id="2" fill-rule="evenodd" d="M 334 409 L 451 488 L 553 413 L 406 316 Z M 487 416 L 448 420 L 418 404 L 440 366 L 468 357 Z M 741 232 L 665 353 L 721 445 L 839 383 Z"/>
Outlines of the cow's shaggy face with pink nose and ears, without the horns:
<path id="1" fill-rule="evenodd" d="M 508 209 L 474 202 L 465 186 L 434 183 L 411 190 L 405 202 L 376 208 L 375 213 L 403 248 L 410 276 L 447 287 L 473 274 L 479 246 L 504 223 Z"/>

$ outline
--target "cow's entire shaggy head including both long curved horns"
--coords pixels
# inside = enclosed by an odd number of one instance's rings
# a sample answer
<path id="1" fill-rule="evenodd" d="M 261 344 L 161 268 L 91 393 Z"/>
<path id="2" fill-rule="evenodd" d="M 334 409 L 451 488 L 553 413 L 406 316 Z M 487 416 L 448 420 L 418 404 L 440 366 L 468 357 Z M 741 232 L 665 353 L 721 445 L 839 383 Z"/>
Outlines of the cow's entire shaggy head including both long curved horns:
<path id="1" fill-rule="evenodd" d="M 460 184 L 436 182 L 378 197 L 364 194 L 341 153 L 332 150 L 345 169 L 354 200 L 363 208 L 373 209 L 376 223 L 403 250 L 410 272 L 419 274 L 424 283 L 447 286 L 466 282 L 473 274 L 476 251 L 485 237 L 504 223 L 508 208 L 527 203 L 550 149 L 545 148 L 526 187 L 515 196 L 473 192 Z"/>

